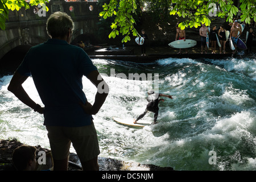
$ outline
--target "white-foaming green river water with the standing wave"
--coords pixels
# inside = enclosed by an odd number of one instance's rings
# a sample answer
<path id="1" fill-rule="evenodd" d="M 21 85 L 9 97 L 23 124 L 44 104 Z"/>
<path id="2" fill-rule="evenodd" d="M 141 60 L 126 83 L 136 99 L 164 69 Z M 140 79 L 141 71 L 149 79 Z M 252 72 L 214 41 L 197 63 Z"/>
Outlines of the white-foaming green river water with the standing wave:
<path id="1" fill-rule="evenodd" d="M 148 64 L 94 59 L 110 86 L 105 104 L 94 116 L 100 156 L 175 170 L 255 170 L 255 56 L 207 60 L 211 64 L 172 58 Z M 129 80 L 129 73 L 141 78 Z M 11 77 L 0 78 L 0 138 L 49 148 L 43 116 L 7 91 Z M 93 102 L 95 86 L 85 77 L 83 84 Z M 23 86 L 42 104 L 32 78 Z M 150 88 L 173 96 L 160 102 L 158 124 L 138 129 L 113 121 L 143 113 Z M 148 113 L 143 120 L 153 118 Z"/>

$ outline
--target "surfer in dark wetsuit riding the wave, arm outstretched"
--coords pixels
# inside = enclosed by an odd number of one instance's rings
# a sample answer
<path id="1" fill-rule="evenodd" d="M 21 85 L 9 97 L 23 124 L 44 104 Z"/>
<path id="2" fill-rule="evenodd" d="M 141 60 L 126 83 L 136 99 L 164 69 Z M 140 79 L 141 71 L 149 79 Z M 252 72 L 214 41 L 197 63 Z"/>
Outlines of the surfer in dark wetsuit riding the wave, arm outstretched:
<path id="1" fill-rule="evenodd" d="M 159 101 L 164 101 L 162 98 L 159 99 L 159 97 L 168 97 L 172 99 L 172 96 L 168 96 L 162 93 L 155 93 L 154 90 L 148 90 L 147 94 L 148 94 L 148 97 L 147 97 L 148 104 L 147 104 L 146 110 L 144 111 L 144 113 L 139 115 L 139 117 L 136 120 L 134 120 L 134 124 L 137 123 L 139 119 L 143 118 L 144 115 L 147 114 L 147 111 L 151 111 L 152 113 L 155 113 L 154 115 L 154 124 L 155 124 L 156 119 L 158 118 Z"/>

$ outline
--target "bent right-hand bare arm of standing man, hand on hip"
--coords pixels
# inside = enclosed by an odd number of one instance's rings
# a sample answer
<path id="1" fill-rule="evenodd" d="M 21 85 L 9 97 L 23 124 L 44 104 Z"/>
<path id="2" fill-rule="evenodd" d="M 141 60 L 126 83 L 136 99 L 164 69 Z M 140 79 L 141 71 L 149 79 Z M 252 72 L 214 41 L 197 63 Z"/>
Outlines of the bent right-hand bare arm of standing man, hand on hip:
<path id="1" fill-rule="evenodd" d="M 91 105 L 89 102 L 86 102 L 85 105 L 81 104 L 81 106 L 84 108 L 85 113 L 94 115 L 98 113 L 98 111 L 101 109 L 101 106 L 104 104 L 109 93 L 109 86 L 100 76 L 98 71 L 92 71 L 86 77 L 96 86 L 97 93 L 93 105 Z"/>

